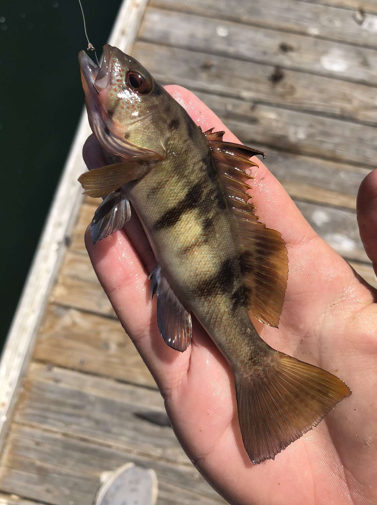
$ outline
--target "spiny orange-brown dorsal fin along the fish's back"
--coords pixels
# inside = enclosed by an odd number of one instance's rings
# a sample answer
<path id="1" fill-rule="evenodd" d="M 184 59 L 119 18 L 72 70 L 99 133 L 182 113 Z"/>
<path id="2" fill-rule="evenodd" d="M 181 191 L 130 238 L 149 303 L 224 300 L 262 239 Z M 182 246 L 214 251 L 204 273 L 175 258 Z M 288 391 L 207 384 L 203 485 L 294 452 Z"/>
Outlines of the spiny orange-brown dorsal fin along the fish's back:
<path id="1" fill-rule="evenodd" d="M 288 253 L 281 234 L 258 221 L 249 203 L 253 177 L 244 170 L 258 166 L 249 160 L 264 153 L 251 147 L 223 142 L 224 132 L 204 132 L 219 171 L 230 209 L 236 218 L 243 250 L 243 270 L 249 310 L 259 321 L 277 327 L 283 309 L 288 279 Z"/>

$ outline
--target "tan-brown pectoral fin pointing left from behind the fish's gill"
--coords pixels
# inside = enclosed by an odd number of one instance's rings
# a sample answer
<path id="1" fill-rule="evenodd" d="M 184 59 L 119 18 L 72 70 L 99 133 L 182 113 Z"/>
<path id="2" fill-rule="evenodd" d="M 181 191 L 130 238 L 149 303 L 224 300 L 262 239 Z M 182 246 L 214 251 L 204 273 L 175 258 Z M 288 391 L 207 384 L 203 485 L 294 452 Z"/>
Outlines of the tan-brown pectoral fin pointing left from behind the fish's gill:
<path id="1" fill-rule="evenodd" d="M 140 179 L 147 168 L 146 163 L 116 163 L 85 172 L 80 175 L 78 181 L 84 189 L 84 194 L 93 198 L 105 197 L 127 182 Z"/>

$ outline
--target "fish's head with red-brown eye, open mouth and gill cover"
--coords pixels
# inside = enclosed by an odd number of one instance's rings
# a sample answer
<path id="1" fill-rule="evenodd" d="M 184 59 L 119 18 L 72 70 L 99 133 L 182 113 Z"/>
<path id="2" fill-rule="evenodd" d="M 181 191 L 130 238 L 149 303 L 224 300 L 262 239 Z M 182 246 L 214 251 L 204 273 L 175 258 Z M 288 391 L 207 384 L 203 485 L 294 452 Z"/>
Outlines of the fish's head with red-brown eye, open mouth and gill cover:
<path id="1" fill-rule="evenodd" d="M 79 54 L 90 127 L 112 155 L 166 158 L 166 133 L 159 110 L 167 92 L 134 58 L 106 44 L 98 67 Z"/>

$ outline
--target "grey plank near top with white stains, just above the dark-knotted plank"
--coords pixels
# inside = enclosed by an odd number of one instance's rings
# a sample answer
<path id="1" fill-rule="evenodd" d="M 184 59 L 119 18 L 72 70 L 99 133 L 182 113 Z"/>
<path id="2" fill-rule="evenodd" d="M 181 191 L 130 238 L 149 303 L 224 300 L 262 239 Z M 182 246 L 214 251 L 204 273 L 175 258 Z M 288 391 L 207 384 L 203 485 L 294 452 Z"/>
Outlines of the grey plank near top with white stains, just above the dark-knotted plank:
<path id="1" fill-rule="evenodd" d="M 145 11 L 139 38 L 377 85 L 375 50 L 342 42 L 151 7 Z M 282 43 L 292 51 L 282 51 Z"/>

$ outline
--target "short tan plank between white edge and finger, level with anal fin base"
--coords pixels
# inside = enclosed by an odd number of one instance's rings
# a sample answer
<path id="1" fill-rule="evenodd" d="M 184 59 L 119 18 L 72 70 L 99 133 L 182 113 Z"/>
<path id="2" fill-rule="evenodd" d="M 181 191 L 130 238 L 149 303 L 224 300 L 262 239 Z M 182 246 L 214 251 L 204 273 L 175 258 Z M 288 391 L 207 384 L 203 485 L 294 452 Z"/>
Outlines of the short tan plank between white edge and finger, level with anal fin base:
<path id="1" fill-rule="evenodd" d="M 87 255 L 67 252 L 58 282 L 52 291 L 51 301 L 116 318 Z"/>

